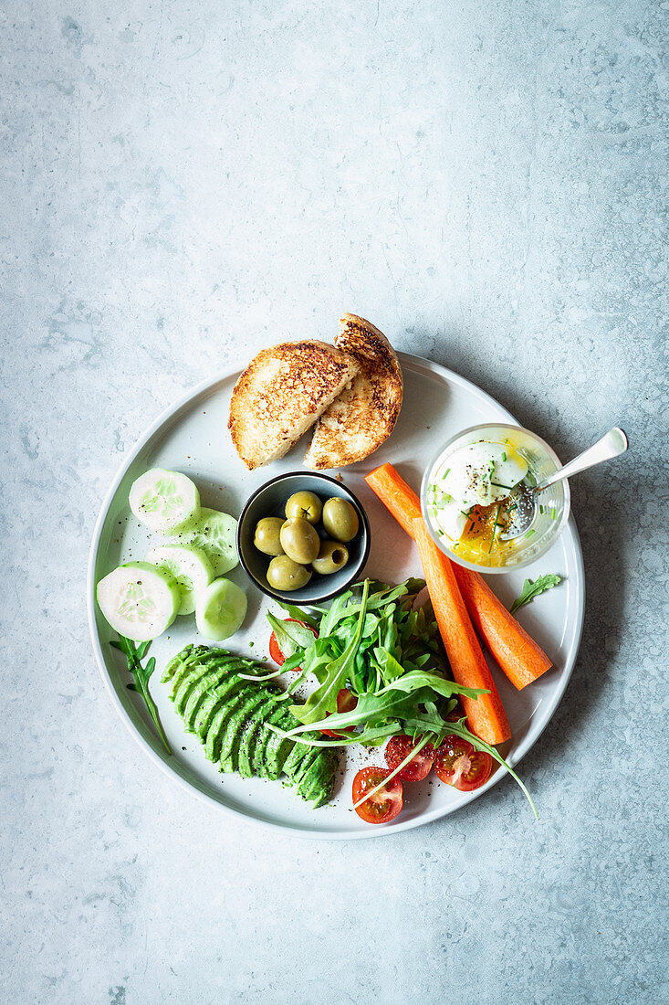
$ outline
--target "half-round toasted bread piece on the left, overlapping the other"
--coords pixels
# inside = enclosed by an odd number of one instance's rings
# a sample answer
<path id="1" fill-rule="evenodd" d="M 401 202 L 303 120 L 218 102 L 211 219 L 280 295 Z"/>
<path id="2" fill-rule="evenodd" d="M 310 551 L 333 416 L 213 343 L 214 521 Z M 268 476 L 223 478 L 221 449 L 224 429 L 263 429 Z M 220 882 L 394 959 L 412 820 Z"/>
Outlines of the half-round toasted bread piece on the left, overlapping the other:
<path id="1" fill-rule="evenodd" d="M 251 470 L 277 460 L 351 384 L 358 364 L 324 342 L 263 349 L 235 384 L 228 428 Z"/>

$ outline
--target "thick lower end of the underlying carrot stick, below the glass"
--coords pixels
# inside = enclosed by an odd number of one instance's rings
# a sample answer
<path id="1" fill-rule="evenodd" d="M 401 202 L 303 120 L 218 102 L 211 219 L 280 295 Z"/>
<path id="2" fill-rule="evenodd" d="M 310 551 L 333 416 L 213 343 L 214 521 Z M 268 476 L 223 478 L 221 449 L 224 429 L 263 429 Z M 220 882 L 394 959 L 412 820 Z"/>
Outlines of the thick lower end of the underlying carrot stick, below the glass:
<path id="1" fill-rule="evenodd" d="M 543 649 L 497 600 L 483 577 L 455 562 L 453 570 L 474 628 L 511 683 L 520 690 L 550 669 Z"/>

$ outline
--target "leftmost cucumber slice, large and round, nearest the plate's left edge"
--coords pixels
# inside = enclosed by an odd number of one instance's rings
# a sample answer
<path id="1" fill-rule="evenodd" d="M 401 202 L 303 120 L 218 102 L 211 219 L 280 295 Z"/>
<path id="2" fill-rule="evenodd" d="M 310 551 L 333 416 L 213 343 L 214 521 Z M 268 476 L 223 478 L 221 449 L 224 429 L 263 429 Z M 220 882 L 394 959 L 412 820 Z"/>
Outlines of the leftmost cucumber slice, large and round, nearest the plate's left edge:
<path id="1" fill-rule="evenodd" d="M 121 635 L 147 642 L 170 627 L 181 595 L 176 579 L 167 569 L 149 562 L 128 562 L 100 579 L 97 603 Z"/>

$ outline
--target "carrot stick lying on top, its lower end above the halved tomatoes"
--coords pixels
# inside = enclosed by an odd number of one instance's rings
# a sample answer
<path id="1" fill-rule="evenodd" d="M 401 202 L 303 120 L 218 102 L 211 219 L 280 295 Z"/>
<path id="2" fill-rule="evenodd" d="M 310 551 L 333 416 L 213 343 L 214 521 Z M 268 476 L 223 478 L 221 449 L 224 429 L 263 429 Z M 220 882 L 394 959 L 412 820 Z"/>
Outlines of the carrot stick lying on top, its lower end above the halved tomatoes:
<path id="1" fill-rule="evenodd" d="M 476 698 L 460 695 L 469 729 L 486 744 L 501 744 L 509 739 L 511 731 L 467 614 L 453 565 L 437 548 L 421 518 L 414 520 L 413 531 L 453 679 L 463 687 L 484 687 L 490 692 Z"/>

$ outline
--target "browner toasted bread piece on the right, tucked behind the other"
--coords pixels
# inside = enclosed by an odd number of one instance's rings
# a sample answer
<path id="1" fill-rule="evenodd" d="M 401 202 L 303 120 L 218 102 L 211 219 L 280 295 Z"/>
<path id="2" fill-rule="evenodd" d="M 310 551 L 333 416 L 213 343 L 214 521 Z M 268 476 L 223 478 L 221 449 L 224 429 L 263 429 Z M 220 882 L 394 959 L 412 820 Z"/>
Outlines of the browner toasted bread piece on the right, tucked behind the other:
<path id="1" fill-rule="evenodd" d="M 336 344 L 354 357 L 360 373 L 318 419 L 304 457 L 305 465 L 315 469 L 364 460 L 388 439 L 402 408 L 402 369 L 378 328 L 345 315 Z"/>

